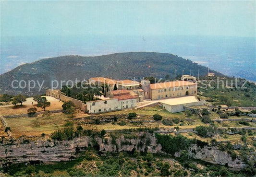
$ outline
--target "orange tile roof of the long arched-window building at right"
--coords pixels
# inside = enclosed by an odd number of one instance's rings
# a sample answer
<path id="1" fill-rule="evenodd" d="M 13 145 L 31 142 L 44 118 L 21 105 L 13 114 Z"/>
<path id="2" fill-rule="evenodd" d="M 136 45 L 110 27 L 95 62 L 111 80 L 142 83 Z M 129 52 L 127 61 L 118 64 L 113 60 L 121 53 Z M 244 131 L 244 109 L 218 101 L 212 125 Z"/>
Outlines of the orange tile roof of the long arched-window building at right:
<path id="1" fill-rule="evenodd" d="M 196 83 L 188 81 L 172 81 L 166 83 L 152 83 L 150 84 L 150 89 L 161 89 L 161 88 L 170 88 L 170 87 L 182 87 L 188 85 L 196 85 Z"/>

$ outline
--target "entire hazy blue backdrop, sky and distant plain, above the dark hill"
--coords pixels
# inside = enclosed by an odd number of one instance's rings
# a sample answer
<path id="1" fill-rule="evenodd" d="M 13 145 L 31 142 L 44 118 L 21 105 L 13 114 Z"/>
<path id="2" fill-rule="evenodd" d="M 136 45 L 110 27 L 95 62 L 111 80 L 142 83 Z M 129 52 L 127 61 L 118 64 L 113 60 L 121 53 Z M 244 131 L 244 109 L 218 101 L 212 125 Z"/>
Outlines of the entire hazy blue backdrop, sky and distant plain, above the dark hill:
<path id="1" fill-rule="evenodd" d="M 210 63 L 211 69 L 224 74 L 252 75 L 245 78 L 256 80 L 255 1 L 0 4 L 0 74 L 23 63 L 62 55 L 153 51 L 204 66 Z"/>

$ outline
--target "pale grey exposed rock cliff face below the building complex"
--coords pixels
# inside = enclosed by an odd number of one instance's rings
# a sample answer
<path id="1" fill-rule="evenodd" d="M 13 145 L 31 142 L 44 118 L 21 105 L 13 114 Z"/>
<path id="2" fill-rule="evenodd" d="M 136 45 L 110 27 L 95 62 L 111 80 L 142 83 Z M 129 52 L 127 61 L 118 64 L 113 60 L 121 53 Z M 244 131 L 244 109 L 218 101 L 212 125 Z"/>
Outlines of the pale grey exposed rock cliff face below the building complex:
<path id="1" fill-rule="evenodd" d="M 15 140 L 1 140 L 0 165 L 8 166 L 24 162 L 68 161 L 78 156 L 79 152 L 85 151 L 88 147 L 94 147 L 100 153 L 134 151 L 164 153 L 154 133 L 148 132 L 138 132 L 135 138 L 125 138 L 123 135 L 117 138 L 111 136 L 108 138 L 83 136 L 70 141 L 27 140 L 21 137 Z M 218 150 L 215 146 L 204 146 L 201 148 L 197 145 L 192 145 L 188 153 L 194 159 L 200 159 L 213 164 L 228 165 L 238 169 L 245 167 L 241 160 L 232 160 L 228 153 Z M 180 152 L 175 154 L 178 157 L 179 155 Z"/>

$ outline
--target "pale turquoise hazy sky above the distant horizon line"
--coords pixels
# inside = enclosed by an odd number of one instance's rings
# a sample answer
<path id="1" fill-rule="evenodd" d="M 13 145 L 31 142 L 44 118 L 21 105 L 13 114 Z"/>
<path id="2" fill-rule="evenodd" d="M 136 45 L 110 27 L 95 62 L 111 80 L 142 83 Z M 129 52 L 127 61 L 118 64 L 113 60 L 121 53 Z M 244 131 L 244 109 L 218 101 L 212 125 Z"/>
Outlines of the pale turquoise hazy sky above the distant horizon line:
<path id="1" fill-rule="evenodd" d="M 3 1 L 1 35 L 256 35 L 253 1 Z"/>

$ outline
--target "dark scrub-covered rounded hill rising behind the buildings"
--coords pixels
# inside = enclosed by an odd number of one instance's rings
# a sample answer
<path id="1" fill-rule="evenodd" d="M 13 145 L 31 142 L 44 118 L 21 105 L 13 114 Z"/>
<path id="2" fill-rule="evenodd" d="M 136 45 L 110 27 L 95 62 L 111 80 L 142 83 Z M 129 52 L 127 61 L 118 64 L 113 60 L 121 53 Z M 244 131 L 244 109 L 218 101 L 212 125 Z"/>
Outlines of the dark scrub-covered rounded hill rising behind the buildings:
<path id="1" fill-rule="evenodd" d="M 82 81 L 97 76 L 131 79 L 146 76 L 164 78 L 166 74 L 169 74 L 173 78 L 174 69 L 176 69 L 176 76 L 181 75 L 183 70 L 184 74 L 189 74 L 190 69 L 192 75 L 195 76 L 197 76 L 198 69 L 201 76 L 207 74 L 207 67 L 167 53 L 131 52 L 97 57 L 62 56 L 20 65 L 12 71 L 0 75 L 0 94 L 18 94 L 20 92 L 30 95 L 42 94 L 54 80 L 75 81 L 77 78 Z M 213 72 L 222 75 L 219 72 Z M 38 84 L 28 92 L 28 87 L 13 89 L 12 81 L 14 80 L 24 80 L 26 83 L 34 80 L 40 84 L 45 82 L 40 92 L 38 92 Z"/>

